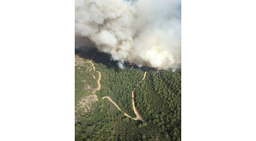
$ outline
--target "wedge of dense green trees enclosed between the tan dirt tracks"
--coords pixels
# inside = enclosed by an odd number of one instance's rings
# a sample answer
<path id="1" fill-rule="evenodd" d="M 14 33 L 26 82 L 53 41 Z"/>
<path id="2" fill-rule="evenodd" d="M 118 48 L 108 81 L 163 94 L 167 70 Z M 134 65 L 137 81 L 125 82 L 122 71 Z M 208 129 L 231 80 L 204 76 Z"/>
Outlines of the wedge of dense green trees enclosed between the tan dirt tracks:
<path id="1" fill-rule="evenodd" d="M 95 67 L 104 68 L 100 65 L 95 65 Z M 114 69 L 98 70 L 102 73 L 101 90 L 96 92 L 99 98 L 110 96 L 122 110 L 135 117 L 132 110 L 132 89 L 143 77 L 143 71 L 140 69 L 125 69 L 120 72 L 116 72 Z"/>

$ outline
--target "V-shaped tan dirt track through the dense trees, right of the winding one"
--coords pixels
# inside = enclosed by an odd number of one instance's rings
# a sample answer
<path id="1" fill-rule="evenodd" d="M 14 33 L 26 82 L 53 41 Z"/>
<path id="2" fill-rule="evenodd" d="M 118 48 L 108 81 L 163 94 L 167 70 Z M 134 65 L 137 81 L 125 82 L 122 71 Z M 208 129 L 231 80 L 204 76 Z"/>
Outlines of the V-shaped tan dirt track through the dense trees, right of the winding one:
<path id="1" fill-rule="evenodd" d="M 147 74 L 147 71 L 145 71 L 144 76 L 143 76 L 143 78 L 142 78 L 141 81 L 143 81 L 143 80 L 145 79 L 146 74 Z M 141 81 L 139 81 L 136 86 L 138 86 L 138 84 L 141 83 Z M 135 107 L 135 103 L 134 103 L 134 90 L 135 90 L 135 88 L 132 90 L 132 108 L 133 108 L 133 110 L 134 110 L 134 114 L 136 115 L 136 117 L 133 118 L 133 117 L 129 116 L 129 115 L 126 114 L 126 113 L 124 113 L 124 116 L 127 116 L 127 117 L 129 117 L 129 118 L 132 118 L 132 119 L 134 119 L 134 120 L 138 120 L 138 119 L 139 119 L 139 120 L 141 120 L 141 121 L 144 121 L 144 120 L 142 119 L 142 117 L 139 115 L 139 112 L 136 110 L 136 107 Z M 104 97 L 102 97 L 101 99 L 105 99 L 105 98 L 107 98 L 110 102 L 112 102 L 112 103 L 115 105 L 115 107 L 117 107 L 118 110 L 120 110 L 120 111 L 122 112 L 121 108 L 117 105 L 117 103 L 115 103 L 109 96 L 104 96 Z"/>

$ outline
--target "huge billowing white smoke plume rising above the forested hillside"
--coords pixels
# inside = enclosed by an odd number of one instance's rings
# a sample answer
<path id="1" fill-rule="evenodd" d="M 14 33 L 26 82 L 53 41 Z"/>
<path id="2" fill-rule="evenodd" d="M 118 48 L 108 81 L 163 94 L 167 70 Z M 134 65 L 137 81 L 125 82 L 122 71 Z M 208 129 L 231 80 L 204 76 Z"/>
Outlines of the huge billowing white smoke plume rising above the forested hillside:
<path id="1" fill-rule="evenodd" d="M 176 69 L 181 63 L 180 0 L 75 0 L 76 38 L 122 63 Z M 86 41 L 87 42 L 87 41 Z"/>

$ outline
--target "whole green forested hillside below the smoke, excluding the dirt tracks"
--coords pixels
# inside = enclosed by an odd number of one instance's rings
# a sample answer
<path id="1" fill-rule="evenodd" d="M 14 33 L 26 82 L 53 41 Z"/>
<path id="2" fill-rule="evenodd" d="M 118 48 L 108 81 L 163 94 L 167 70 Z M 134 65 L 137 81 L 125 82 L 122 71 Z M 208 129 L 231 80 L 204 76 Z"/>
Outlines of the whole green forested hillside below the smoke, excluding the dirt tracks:
<path id="1" fill-rule="evenodd" d="M 83 60 L 89 60 L 93 51 L 76 51 Z M 95 70 L 101 72 L 101 89 L 96 92 L 98 101 L 80 114 L 75 123 L 76 141 L 179 141 L 181 140 L 181 70 L 156 71 L 148 68 L 119 69 L 108 54 L 97 52 L 94 56 Z M 78 69 L 79 67 L 79 69 Z M 76 66 L 77 101 L 91 93 L 84 89 L 90 84 L 97 87 L 86 66 Z M 138 81 L 147 76 L 136 87 Z M 135 107 L 144 121 L 124 116 L 124 112 L 135 117 L 132 109 L 132 90 L 135 90 Z M 108 99 L 110 96 L 122 109 L 120 112 Z"/>

